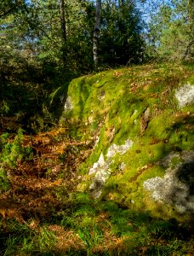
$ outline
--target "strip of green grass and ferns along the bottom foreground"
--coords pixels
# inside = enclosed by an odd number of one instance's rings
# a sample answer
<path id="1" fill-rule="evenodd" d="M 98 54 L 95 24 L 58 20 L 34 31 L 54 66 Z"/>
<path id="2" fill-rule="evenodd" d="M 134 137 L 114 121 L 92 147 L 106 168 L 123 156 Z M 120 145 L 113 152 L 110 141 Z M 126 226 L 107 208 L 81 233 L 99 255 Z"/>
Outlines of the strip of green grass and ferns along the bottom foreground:
<path id="1" fill-rule="evenodd" d="M 26 224 L 1 219 L 1 253 L 186 255 L 190 252 L 191 231 L 184 224 L 175 219 L 152 218 L 151 212 L 119 207 L 114 201 L 94 201 L 87 194 L 78 193 L 60 214 L 53 214 L 49 220 L 34 225 L 33 219 Z M 61 237 L 64 245 L 59 247 Z"/>

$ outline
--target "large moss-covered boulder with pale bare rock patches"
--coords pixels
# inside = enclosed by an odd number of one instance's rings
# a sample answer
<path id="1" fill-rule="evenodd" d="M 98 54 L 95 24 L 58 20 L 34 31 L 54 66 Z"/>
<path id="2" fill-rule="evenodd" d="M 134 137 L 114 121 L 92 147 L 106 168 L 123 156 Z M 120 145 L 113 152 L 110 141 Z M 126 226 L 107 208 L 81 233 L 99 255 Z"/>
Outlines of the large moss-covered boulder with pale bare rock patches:
<path id="1" fill-rule="evenodd" d="M 100 198 L 149 210 L 157 217 L 190 218 L 194 108 L 193 95 L 186 101 L 181 88 L 192 92 L 193 85 L 191 67 L 170 65 L 108 70 L 72 80 L 60 123 L 70 125 L 80 140 L 94 142 L 92 154 L 79 166 L 84 177 L 79 187 L 92 188 L 93 193 L 96 188 L 94 195 Z M 184 103 L 177 98 L 180 94 Z M 130 147 L 123 150 L 126 142 Z M 174 158 L 165 166 L 165 157 L 171 154 Z M 170 192 L 158 194 L 169 180 L 174 199 Z"/>

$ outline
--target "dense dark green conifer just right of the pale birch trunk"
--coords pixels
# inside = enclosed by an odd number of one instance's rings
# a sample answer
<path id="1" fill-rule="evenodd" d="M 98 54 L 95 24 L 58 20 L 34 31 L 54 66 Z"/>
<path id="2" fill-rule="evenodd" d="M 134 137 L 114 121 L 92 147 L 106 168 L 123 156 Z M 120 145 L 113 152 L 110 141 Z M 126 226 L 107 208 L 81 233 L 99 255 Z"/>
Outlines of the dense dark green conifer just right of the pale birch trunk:
<path id="1" fill-rule="evenodd" d="M 130 1 L 102 3 L 100 58 L 103 65 L 126 65 L 143 61 L 140 12 Z"/>

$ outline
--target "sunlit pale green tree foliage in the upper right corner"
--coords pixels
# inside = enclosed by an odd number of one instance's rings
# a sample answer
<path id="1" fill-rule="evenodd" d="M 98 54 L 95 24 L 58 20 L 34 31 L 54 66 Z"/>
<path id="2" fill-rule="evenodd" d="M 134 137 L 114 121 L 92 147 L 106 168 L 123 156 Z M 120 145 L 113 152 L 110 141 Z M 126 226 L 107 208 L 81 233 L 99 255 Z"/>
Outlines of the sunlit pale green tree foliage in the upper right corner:
<path id="1" fill-rule="evenodd" d="M 192 1 L 164 1 L 152 15 L 150 45 L 158 59 L 166 61 L 193 61 Z M 155 51 L 155 53 L 154 53 Z"/>

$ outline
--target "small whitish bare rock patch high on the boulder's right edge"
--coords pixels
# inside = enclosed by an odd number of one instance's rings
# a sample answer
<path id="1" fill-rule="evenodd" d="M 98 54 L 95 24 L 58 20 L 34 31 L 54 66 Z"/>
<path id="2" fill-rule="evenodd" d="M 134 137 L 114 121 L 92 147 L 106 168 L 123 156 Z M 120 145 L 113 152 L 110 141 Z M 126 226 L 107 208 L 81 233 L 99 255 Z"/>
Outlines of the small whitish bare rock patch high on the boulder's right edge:
<path id="1" fill-rule="evenodd" d="M 185 107 L 185 105 L 192 104 L 194 102 L 194 86 L 191 84 L 185 84 L 175 91 L 175 96 L 179 102 L 180 108 Z"/>

